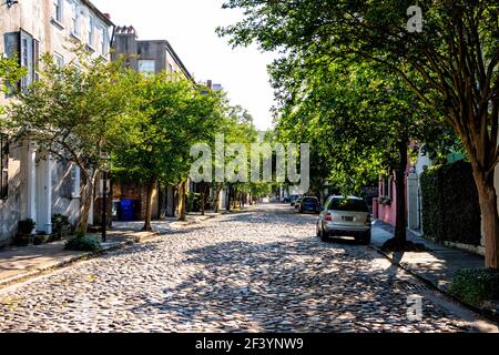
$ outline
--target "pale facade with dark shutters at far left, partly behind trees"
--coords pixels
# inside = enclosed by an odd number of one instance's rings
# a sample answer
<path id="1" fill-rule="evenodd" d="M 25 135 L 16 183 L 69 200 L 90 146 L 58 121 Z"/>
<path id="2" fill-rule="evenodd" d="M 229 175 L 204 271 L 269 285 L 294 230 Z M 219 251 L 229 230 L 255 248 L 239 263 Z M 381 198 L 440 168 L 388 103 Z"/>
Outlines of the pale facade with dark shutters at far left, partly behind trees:
<path id="1" fill-rule="evenodd" d="M 74 58 L 71 48 L 83 44 L 93 55 L 110 58 L 114 26 L 88 0 L 22 0 L 0 4 L 0 53 L 19 58 L 28 74 L 28 87 L 38 79 L 42 53 L 59 65 Z M 10 98 L 0 97 L 0 104 Z M 18 222 L 32 219 L 37 232 L 52 232 L 52 215 L 68 215 L 75 223 L 80 214 L 80 172 L 57 160 L 32 141 L 10 142 L 2 133 L 2 194 L 0 245 L 16 234 Z"/>

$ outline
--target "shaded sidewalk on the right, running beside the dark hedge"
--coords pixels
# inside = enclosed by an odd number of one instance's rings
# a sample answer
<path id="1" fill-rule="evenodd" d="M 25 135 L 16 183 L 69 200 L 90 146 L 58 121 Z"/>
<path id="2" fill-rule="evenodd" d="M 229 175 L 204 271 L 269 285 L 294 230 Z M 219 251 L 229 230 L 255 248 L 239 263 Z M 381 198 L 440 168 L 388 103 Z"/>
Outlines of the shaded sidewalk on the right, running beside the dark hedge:
<path id="1" fill-rule="evenodd" d="M 386 253 L 381 251 L 383 244 L 393 237 L 394 227 L 381 221 L 376 220 L 373 224 L 373 234 L 370 246 L 379 253 L 387 256 L 394 264 L 397 264 L 409 273 L 418 276 L 427 284 L 432 285 L 442 293 L 448 294 L 448 286 L 457 271 L 468 267 L 483 267 L 483 256 L 472 254 L 470 252 L 452 248 L 428 241 L 407 232 L 407 240 L 414 243 L 424 244 L 429 251 L 427 252 L 404 252 L 404 253 Z M 470 306 L 470 305 L 468 305 Z M 476 308 L 473 306 L 470 306 Z M 497 305 L 488 305 L 481 311 L 492 317 L 499 316 Z"/>

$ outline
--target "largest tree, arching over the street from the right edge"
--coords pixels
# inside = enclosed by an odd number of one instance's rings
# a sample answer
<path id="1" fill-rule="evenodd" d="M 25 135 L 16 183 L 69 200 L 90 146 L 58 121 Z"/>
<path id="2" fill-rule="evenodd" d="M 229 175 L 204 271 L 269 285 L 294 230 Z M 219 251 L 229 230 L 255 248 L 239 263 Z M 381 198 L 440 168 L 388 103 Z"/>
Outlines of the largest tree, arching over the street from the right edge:
<path id="1" fill-rule="evenodd" d="M 228 0 L 245 18 L 218 29 L 232 43 L 298 55 L 316 67 L 353 53 L 396 72 L 454 129 L 477 184 L 486 266 L 499 267 L 499 219 L 493 185 L 499 161 L 499 28 L 497 0 L 425 0 L 422 31 L 409 26 L 411 1 Z M 414 8 L 411 8 L 414 9 Z M 408 21 L 409 20 L 409 21 Z M 424 82 L 420 80 L 424 79 Z"/>

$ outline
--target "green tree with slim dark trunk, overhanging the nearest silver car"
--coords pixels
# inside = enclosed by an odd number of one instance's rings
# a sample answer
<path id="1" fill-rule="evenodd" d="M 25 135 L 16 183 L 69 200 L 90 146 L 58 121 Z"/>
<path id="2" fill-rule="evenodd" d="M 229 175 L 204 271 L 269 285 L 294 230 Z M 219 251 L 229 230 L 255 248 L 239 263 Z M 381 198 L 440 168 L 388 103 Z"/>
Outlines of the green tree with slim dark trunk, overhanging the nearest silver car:
<path id="1" fill-rule="evenodd" d="M 396 77 L 366 63 L 330 64 L 309 74 L 307 84 L 291 89 L 294 99 L 286 101 L 277 129 L 312 142 L 318 174 L 350 194 L 377 181 L 378 174 L 394 172 L 397 219 L 389 243 L 404 250 L 409 140 L 439 138 L 441 120 L 429 115 Z M 320 165 L 328 166 L 326 172 Z"/>

